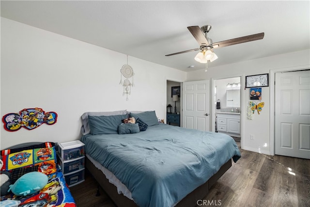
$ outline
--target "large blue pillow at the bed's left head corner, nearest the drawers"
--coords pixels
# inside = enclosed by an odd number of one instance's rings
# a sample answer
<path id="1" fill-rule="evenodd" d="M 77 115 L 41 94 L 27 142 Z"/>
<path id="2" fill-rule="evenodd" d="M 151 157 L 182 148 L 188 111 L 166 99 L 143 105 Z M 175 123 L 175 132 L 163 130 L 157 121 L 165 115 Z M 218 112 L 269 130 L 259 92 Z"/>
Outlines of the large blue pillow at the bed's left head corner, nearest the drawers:
<path id="1" fill-rule="evenodd" d="M 93 135 L 117 134 L 118 125 L 122 120 L 128 118 L 128 115 L 114 116 L 88 116 L 88 124 Z"/>

